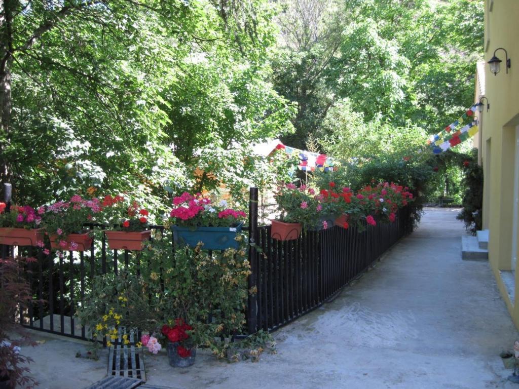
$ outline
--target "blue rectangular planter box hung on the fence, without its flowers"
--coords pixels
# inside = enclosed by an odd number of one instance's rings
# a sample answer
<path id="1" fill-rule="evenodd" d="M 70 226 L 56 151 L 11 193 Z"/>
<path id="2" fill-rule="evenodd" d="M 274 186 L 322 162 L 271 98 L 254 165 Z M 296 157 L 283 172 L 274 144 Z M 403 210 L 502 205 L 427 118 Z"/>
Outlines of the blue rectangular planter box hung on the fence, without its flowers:
<path id="1" fill-rule="evenodd" d="M 204 250 L 225 250 L 229 247 L 238 248 L 236 234 L 241 231 L 243 223 L 233 227 L 187 227 L 171 226 L 173 240 L 177 244 L 195 247 L 203 242 Z"/>

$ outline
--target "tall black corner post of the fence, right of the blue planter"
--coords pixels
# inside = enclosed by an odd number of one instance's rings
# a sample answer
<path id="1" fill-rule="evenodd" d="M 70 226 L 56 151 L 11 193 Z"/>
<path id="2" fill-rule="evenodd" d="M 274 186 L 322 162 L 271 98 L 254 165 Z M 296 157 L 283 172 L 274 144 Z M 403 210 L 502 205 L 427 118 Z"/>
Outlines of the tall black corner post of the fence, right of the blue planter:
<path id="1" fill-rule="evenodd" d="M 258 230 L 258 188 L 249 189 L 249 307 L 247 310 L 247 324 L 249 334 L 257 331 L 257 256 L 256 235 Z M 253 291 L 253 293 L 251 293 Z"/>

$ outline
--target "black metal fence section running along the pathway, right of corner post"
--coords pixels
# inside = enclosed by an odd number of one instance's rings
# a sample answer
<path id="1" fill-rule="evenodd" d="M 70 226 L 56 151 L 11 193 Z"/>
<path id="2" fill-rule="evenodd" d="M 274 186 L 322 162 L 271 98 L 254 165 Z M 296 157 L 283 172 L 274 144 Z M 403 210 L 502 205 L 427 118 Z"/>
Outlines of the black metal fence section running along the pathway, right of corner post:
<path id="1" fill-rule="evenodd" d="M 363 232 L 353 224 L 347 230 L 306 231 L 293 241 L 272 239 L 270 226 L 258 227 L 255 241 L 261 251 L 251 258 L 257 294 L 249 302 L 249 331 L 275 330 L 333 298 L 411 226 L 403 209 L 392 224 L 364 226 Z"/>

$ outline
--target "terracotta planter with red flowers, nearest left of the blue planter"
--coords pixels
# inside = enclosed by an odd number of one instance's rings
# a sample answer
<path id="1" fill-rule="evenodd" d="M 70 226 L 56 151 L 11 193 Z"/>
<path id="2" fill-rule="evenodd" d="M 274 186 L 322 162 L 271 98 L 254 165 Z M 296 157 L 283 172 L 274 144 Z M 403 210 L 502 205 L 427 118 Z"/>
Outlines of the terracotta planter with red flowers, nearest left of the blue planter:
<path id="1" fill-rule="evenodd" d="M 144 242 L 151 235 L 146 209 L 136 201 L 126 201 L 122 196 L 105 196 L 103 215 L 110 226 L 105 234 L 111 249 L 142 251 Z"/>

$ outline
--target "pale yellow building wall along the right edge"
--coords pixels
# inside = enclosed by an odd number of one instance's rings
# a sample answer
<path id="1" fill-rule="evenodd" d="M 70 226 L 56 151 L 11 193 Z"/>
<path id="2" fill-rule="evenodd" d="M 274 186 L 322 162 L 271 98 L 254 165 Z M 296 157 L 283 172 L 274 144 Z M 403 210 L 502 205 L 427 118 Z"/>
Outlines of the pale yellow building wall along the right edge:
<path id="1" fill-rule="evenodd" d="M 519 174 L 515 161 L 515 126 L 519 125 L 519 1 L 485 0 L 485 61 L 494 50 L 508 51 L 511 68 L 506 72 L 505 53 L 497 51 L 501 71 L 491 74 L 485 67 L 486 97 L 490 110 L 483 116 L 481 157 L 484 168 L 484 220 L 488 224 L 488 255 L 492 271 L 516 327 L 519 328 L 519 304 L 513 304 L 501 279 L 500 271 L 512 268 L 512 223 L 514 175 Z M 519 285 L 516 279 L 515 285 Z M 515 301 L 519 290 L 508 287 Z"/>

